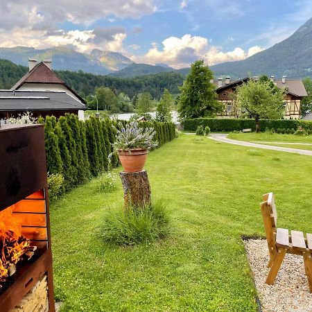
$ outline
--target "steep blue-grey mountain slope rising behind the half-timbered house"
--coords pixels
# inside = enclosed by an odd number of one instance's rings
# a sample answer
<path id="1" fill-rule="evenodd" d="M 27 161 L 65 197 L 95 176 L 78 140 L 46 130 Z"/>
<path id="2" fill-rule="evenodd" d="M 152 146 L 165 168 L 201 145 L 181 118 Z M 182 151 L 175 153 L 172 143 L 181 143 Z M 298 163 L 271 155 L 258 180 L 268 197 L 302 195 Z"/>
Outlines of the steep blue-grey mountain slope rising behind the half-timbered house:
<path id="1" fill-rule="evenodd" d="M 225 62 L 210 67 L 216 77 L 228 75 L 244 78 L 266 74 L 302 78 L 312 76 L 312 18 L 306 21 L 291 37 L 269 49 L 236 62 Z"/>

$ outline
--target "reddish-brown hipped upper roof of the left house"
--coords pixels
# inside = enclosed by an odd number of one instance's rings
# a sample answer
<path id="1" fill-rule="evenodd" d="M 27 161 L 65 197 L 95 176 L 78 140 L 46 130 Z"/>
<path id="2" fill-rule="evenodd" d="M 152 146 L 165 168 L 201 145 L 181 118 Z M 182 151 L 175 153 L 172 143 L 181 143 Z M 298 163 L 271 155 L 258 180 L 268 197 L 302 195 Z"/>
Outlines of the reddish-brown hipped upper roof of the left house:
<path id="1" fill-rule="evenodd" d="M 64 85 L 64 87 L 67 87 L 71 93 L 73 93 L 79 100 L 83 103 L 86 104 L 85 100 L 77 94 L 67 83 L 64 83 L 64 81 L 59 78 L 54 71 L 51 71 L 49 67 L 44 64 L 44 62 L 39 62 L 38 64 L 31 69 L 31 71 L 28 71 L 13 87 L 11 90 L 17 90 L 21 85 L 24 85 L 24 83 L 52 83 L 52 84 L 60 84 Z"/>

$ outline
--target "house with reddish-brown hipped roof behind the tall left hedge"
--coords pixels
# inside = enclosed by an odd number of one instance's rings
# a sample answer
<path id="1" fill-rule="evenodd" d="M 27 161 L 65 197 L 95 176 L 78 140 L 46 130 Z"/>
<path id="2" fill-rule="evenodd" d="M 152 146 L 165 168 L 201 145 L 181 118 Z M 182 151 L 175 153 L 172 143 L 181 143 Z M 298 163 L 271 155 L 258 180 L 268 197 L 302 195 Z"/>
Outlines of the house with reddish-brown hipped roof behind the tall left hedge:
<path id="1" fill-rule="evenodd" d="M 0 90 L 0 119 L 8 119 L 24 112 L 33 116 L 65 113 L 83 119 L 86 102 L 51 70 L 51 61 L 28 60 L 29 71 L 10 90 Z"/>

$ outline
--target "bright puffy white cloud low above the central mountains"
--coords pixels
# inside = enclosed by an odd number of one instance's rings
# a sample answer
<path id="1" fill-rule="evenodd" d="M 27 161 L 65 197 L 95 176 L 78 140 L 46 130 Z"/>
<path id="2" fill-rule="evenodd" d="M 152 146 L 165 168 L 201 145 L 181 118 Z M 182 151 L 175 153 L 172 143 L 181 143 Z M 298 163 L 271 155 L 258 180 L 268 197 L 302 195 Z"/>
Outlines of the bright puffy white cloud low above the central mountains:
<path id="1" fill-rule="evenodd" d="M 214 65 L 220 62 L 243 60 L 259 51 L 262 51 L 259 46 L 252 46 L 247 52 L 239 47 L 223 52 L 220 51 L 220 47 L 211 46 L 207 38 L 187 34 L 181 38 L 168 37 L 162 42 L 162 49 L 153 42 L 152 48 L 136 60 L 150 64 L 164 62 L 171 67 L 181 68 L 189 67 L 191 62 L 200 58 L 209 65 Z"/>

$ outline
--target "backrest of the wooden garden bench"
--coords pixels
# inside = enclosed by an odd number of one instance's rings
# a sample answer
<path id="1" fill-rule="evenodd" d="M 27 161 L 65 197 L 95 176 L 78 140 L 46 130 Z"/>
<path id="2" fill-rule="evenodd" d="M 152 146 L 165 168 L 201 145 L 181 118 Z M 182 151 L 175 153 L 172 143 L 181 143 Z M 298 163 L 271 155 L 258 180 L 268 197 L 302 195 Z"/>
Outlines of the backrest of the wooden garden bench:
<path id="1" fill-rule="evenodd" d="M 261 213 L 263 217 L 264 228 L 266 229 L 266 240 L 268 241 L 268 248 L 276 248 L 275 235 L 277 227 L 277 211 L 273 193 L 263 195 L 263 202 L 260 204 Z"/>

